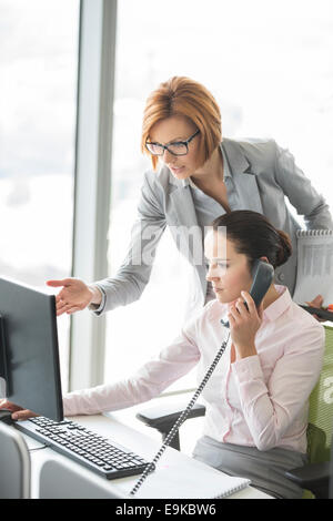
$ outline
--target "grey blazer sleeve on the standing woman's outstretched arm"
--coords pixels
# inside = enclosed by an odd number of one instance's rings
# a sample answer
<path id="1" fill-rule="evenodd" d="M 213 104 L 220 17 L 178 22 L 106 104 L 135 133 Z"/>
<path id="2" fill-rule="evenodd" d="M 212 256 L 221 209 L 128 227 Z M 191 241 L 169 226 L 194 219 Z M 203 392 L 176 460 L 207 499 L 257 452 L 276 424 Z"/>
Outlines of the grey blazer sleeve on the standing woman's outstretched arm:
<path id="1" fill-rule="evenodd" d="M 127 256 L 112 278 L 94 283 L 102 293 L 102 304 L 95 315 L 138 300 L 148 284 L 155 249 L 167 221 L 151 173 L 147 173 L 138 205 L 138 217 L 131 232 Z"/>

